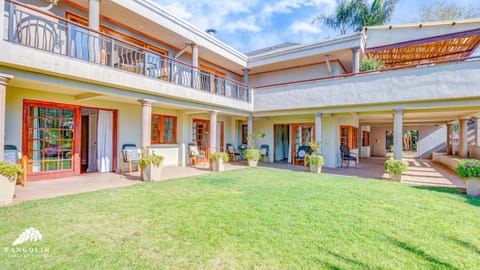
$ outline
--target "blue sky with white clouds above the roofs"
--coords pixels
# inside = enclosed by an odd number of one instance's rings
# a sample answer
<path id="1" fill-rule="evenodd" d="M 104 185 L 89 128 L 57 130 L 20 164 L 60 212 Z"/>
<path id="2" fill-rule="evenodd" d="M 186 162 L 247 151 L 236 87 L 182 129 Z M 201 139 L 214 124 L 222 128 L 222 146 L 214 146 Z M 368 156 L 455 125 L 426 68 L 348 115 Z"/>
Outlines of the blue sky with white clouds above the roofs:
<path id="1" fill-rule="evenodd" d="M 311 43 L 338 32 L 311 21 L 330 14 L 335 0 L 155 0 L 169 12 L 201 30 L 213 28 L 216 37 L 241 52 L 283 42 Z M 454 1 L 454 0 L 448 0 Z M 480 0 L 457 0 L 473 4 Z M 391 23 L 418 21 L 418 10 L 434 0 L 399 0 Z"/>

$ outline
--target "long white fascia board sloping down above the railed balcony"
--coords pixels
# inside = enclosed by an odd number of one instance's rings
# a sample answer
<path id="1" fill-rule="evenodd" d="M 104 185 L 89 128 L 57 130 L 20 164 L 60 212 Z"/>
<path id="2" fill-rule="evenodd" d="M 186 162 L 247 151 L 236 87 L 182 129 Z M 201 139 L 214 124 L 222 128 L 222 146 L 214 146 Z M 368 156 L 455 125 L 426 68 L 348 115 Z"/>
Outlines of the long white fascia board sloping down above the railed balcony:
<path id="1" fill-rule="evenodd" d="M 179 36 L 195 43 L 203 48 L 213 51 L 230 61 L 233 61 L 241 66 L 247 66 L 247 56 L 235 50 L 220 40 L 212 37 L 205 31 L 202 31 L 195 26 L 189 24 L 185 20 L 169 13 L 168 11 L 159 7 L 153 1 L 148 0 L 111 0 L 113 3 L 122 6 L 125 9 L 143 16 L 146 19 L 161 25 Z"/>

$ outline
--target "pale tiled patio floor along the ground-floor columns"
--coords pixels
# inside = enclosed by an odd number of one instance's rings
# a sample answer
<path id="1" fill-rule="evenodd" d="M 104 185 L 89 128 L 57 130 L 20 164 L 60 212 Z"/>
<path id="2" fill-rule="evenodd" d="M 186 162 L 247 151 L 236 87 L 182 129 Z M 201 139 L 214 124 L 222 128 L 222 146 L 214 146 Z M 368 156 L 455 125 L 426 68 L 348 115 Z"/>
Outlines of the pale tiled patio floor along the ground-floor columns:
<path id="1" fill-rule="evenodd" d="M 453 171 L 434 163 L 430 160 L 414 158 L 404 159 L 409 164 L 409 171 L 404 174 L 402 182 L 413 185 L 441 186 L 465 188 L 465 182 Z M 358 176 L 365 178 L 388 179 L 383 172 L 385 158 L 362 159 L 358 168 L 322 168 L 323 173 Z M 289 163 L 260 163 L 262 167 L 308 171 L 308 167 Z M 244 162 L 225 164 L 226 170 L 245 168 Z M 210 173 L 208 166 L 198 165 L 195 167 L 164 167 L 162 180 L 182 178 L 188 176 Z M 25 188 L 17 185 L 13 203 L 20 203 L 28 200 L 52 198 L 63 195 L 70 195 L 82 192 L 90 192 L 115 187 L 129 186 L 140 183 L 139 172 L 129 174 L 116 173 L 88 173 L 81 176 L 67 177 L 55 180 L 29 182 Z"/>

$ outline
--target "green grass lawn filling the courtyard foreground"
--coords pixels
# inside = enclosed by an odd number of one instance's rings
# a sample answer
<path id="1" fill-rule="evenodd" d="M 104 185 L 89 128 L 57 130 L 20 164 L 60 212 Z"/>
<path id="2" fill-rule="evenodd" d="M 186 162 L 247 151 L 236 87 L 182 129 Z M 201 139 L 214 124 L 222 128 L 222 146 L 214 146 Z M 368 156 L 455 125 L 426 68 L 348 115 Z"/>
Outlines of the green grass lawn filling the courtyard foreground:
<path id="1" fill-rule="evenodd" d="M 355 177 L 254 168 L 0 216 L 0 269 L 480 269 L 479 199 Z M 5 252 L 29 227 L 44 239 L 20 247 L 48 252 Z"/>

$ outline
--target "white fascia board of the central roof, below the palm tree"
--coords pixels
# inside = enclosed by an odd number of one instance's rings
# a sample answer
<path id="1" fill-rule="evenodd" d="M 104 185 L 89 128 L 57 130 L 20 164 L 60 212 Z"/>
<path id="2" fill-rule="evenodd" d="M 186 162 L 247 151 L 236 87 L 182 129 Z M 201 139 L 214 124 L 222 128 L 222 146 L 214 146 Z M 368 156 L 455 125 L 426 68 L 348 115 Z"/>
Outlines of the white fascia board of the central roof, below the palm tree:
<path id="1" fill-rule="evenodd" d="M 365 47 L 365 37 L 363 32 L 350 35 L 344 35 L 338 38 L 332 38 L 321 42 L 307 45 L 291 46 L 272 52 L 266 52 L 254 55 L 248 59 L 248 68 L 259 67 L 273 64 L 281 61 L 292 60 L 318 54 L 328 54 L 335 51 Z"/>

